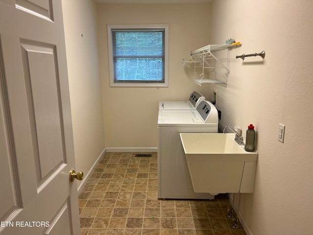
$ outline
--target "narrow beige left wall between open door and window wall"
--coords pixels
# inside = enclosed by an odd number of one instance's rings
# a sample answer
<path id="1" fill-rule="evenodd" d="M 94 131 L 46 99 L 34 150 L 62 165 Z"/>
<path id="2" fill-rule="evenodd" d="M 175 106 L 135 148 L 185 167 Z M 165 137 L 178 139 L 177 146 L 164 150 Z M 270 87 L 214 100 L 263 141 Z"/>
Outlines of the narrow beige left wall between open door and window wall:
<path id="1" fill-rule="evenodd" d="M 75 170 L 87 175 L 105 147 L 96 4 L 92 0 L 63 0 L 62 5 Z"/>

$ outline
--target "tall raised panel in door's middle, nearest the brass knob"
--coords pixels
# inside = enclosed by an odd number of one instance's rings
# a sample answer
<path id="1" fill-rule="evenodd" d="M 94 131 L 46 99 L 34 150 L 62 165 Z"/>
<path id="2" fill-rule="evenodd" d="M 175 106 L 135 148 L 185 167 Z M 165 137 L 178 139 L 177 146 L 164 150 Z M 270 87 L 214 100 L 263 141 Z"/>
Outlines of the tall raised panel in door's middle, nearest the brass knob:
<path id="1" fill-rule="evenodd" d="M 55 47 L 23 42 L 22 63 L 27 87 L 37 184 L 65 161 Z"/>

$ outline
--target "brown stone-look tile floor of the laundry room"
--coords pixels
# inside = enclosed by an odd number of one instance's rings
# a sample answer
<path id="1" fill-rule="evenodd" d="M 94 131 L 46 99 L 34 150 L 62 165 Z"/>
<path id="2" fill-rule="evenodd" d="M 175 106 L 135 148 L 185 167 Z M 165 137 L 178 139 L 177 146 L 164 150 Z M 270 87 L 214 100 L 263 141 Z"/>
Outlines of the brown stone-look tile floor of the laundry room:
<path id="1" fill-rule="evenodd" d="M 226 194 L 157 199 L 157 153 L 105 153 L 79 194 L 82 235 L 246 235 L 230 207 Z"/>

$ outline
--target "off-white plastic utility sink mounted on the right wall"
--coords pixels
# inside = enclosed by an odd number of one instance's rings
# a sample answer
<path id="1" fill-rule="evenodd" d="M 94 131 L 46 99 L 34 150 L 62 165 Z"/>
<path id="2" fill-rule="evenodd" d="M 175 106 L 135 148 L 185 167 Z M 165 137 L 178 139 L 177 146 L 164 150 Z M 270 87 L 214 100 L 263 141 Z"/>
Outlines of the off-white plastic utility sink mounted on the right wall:
<path id="1" fill-rule="evenodd" d="M 234 134 L 180 133 L 195 192 L 254 192 L 258 153 L 246 152 Z"/>

